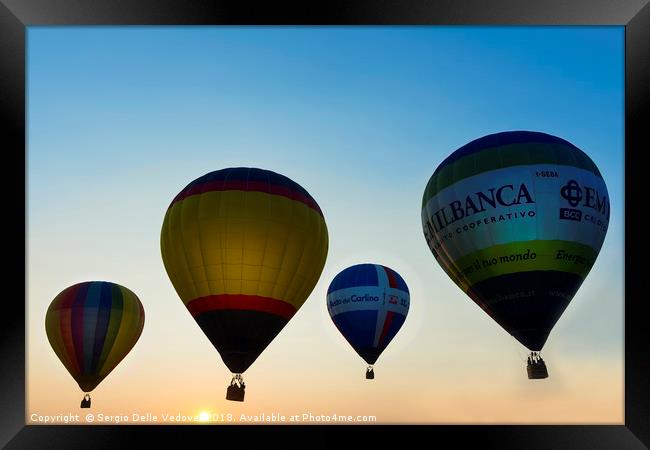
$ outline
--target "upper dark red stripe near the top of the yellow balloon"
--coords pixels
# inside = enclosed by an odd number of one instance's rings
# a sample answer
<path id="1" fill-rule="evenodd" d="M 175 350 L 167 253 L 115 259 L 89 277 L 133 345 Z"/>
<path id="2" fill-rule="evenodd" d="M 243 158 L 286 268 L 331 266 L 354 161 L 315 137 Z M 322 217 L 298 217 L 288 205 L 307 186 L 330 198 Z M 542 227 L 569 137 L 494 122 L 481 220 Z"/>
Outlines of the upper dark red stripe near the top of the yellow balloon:
<path id="1" fill-rule="evenodd" d="M 320 216 L 323 216 L 323 212 L 316 203 L 316 201 L 308 195 L 305 195 L 302 192 L 294 191 L 287 186 L 272 185 L 264 181 L 247 181 L 247 180 L 217 180 L 217 181 L 207 181 L 205 183 L 192 185 L 187 189 L 181 191 L 169 205 L 171 208 L 174 203 L 180 202 L 187 197 L 193 195 L 200 195 L 206 192 L 214 191 L 255 191 L 255 192 L 265 192 L 271 195 L 281 195 L 287 197 L 291 200 L 295 200 L 312 208 L 314 211 L 318 212 Z"/>

